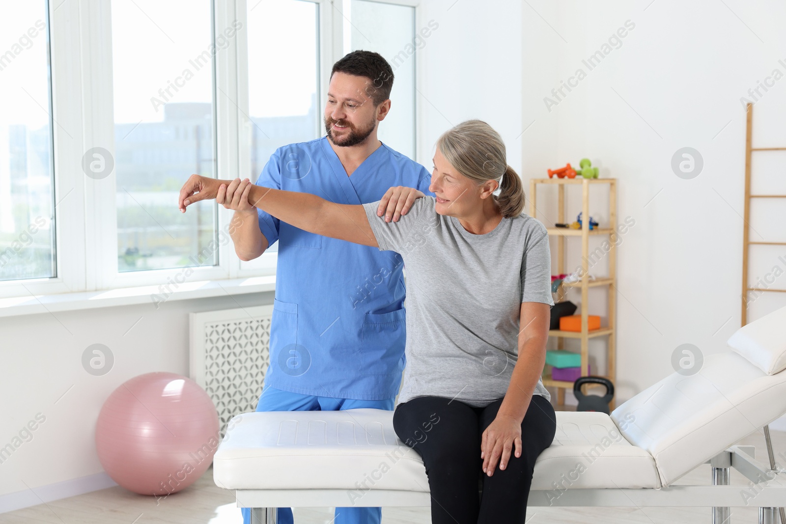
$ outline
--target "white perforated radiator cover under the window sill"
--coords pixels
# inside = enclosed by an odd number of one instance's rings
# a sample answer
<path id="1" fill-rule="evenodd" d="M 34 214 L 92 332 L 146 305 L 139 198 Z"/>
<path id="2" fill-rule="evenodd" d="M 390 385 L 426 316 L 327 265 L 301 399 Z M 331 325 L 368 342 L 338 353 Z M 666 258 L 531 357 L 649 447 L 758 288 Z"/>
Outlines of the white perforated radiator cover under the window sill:
<path id="1" fill-rule="evenodd" d="M 213 400 L 221 438 L 233 416 L 256 409 L 270 364 L 273 306 L 189 314 L 189 375 Z"/>

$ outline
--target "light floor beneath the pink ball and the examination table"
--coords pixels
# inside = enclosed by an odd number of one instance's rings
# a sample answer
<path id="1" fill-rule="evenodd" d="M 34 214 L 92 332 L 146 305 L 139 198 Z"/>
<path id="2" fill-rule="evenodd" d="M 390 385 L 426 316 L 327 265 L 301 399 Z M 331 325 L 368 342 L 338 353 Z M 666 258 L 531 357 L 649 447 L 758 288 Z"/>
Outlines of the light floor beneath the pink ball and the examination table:
<path id="1" fill-rule="evenodd" d="M 776 453 L 786 454 L 786 432 L 773 431 Z M 739 442 L 755 445 L 756 458 L 766 463 L 761 433 Z M 732 470 L 733 485 L 747 486 L 747 479 Z M 685 475 L 679 484 L 710 484 L 710 467 L 703 465 Z M 784 500 L 786 504 L 786 500 Z M 733 508 L 732 521 L 758 522 L 757 508 Z M 332 508 L 295 508 L 296 524 L 328 524 Z M 384 524 L 427 524 L 428 508 L 384 508 Z M 209 469 L 193 486 L 156 500 L 130 493 L 119 486 L 56 500 L 0 515 L 0 524 L 239 524 L 234 493 L 213 483 Z M 711 522 L 709 508 L 530 508 L 527 524 L 587 522 L 598 524 L 695 524 Z"/>

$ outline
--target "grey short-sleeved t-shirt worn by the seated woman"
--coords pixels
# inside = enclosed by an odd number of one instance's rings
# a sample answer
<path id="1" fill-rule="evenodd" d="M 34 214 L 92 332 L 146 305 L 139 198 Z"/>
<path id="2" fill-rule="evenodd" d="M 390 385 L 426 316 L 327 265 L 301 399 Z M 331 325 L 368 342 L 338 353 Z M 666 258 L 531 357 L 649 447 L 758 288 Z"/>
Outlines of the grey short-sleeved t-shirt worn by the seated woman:
<path id="1" fill-rule="evenodd" d="M 554 305 L 544 225 L 520 214 L 468 233 L 417 199 L 399 222 L 364 203 L 380 251 L 406 269 L 406 368 L 399 403 L 425 395 L 485 407 L 505 396 L 518 357 L 521 302 Z M 551 400 L 541 379 L 534 394 Z"/>

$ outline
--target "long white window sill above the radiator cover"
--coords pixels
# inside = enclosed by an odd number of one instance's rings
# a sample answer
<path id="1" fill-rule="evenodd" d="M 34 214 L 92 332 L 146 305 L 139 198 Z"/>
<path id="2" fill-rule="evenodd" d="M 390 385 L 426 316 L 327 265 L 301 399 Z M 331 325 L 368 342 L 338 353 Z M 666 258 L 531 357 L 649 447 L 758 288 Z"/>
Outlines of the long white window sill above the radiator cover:
<path id="1" fill-rule="evenodd" d="M 159 286 L 155 285 L 0 299 L 0 317 L 18 317 L 35 313 L 149 304 L 156 302 L 153 299 L 153 295 L 161 297 L 157 299 L 159 302 L 169 302 L 171 300 L 205 299 L 215 296 L 275 291 L 276 277 L 271 275 L 269 277 L 228 280 L 200 280 L 198 282 L 185 282 L 180 284 L 179 288 L 166 297 L 161 295 Z"/>

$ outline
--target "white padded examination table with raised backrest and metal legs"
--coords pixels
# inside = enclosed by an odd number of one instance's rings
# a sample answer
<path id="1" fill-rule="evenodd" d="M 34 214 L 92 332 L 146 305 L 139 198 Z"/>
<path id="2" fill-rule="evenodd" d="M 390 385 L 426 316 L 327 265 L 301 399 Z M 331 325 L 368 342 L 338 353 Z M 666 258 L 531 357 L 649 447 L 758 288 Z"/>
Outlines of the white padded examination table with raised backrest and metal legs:
<path id="1" fill-rule="evenodd" d="M 740 328 L 734 350 L 704 357 L 700 372 L 675 372 L 601 412 L 556 412 L 556 436 L 535 464 L 529 506 L 759 508 L 776 524 L 786 475 L 733 445 L 786 413 L 786 308 Z M 216 486 L 236 490 L 252 522 L 272 508 L 430 506 L 421 457 L 393 431 L 393 413 L 255 412 L 236 416 L 213 459 Z M 784 464 L 786 453 L 781 457 Z M 674 486 L 700 464 L 713 486 Z M 750 479 L 729 486 L 729 468 Z M 784 523 L 786 524 L 786 523 Z"/>

